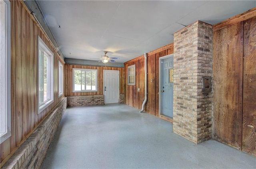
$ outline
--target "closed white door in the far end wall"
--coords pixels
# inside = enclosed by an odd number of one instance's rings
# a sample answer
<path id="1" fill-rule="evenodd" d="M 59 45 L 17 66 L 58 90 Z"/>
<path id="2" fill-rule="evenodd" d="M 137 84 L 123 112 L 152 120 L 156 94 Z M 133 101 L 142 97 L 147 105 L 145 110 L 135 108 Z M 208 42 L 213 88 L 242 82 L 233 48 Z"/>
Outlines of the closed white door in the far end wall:
<path id="1" fill-rule="evenodd" d="M 104 103 L 119 103 L 119 70 L 104 70 Z"/>

